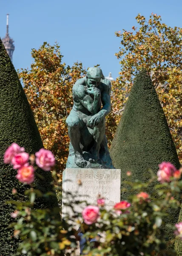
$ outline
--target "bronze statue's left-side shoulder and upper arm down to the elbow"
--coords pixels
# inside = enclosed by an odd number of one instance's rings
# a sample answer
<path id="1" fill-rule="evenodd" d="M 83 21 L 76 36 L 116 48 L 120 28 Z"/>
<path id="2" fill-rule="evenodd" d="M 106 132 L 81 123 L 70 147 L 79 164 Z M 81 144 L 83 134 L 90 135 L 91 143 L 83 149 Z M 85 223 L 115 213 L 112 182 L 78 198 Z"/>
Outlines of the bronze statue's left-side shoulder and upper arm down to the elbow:
<path id="1" fill-rule="evenodd" d="M 81 80 L 81 79 L 79 79 Z M 82 81 L 77 80 L 73 86 L 73 96 L 77 99 L 90 113 L 94 112 L 93 102 L 94 100 L 87 94 L 85 86 Z"/>

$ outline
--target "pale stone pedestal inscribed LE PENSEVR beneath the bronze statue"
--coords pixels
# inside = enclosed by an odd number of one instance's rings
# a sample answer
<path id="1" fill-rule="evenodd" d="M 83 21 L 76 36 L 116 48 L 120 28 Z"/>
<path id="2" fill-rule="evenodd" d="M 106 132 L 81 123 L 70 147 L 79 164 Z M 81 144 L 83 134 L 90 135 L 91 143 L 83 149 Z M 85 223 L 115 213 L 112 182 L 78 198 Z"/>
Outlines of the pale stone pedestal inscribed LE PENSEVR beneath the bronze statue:
<path id="1" fill-rule="evenodd" d="M 85 204 L 74 204 L 71 192 L 77 195 L 75 200 L 87 201 L 88 204 L 96 205 L 97 197 L 100 194 L 105 198 L 106 208 L 111 208 L 120 202 L 120 169 L 82 169 L 67 168 L 63 172 L 63 216 L 71 211 L 65 206 L 69 201 L 72 202 L 75 211 L 81 212 Z M 81 185 L 80 185 L 81 184 Z"/>

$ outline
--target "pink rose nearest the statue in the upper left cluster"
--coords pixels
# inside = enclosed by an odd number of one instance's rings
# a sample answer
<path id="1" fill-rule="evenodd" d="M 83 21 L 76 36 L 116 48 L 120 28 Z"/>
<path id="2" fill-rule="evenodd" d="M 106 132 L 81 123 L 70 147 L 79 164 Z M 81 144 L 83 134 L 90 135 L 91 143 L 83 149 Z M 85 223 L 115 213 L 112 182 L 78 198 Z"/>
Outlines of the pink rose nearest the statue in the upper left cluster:
<path id="1" fill-rule="evenodd" d="M 51 166 L 55 165 L 54 154 L 50 150 L 41 148 L 35 153 L 36 164 L 44 171 L 50 171 Z"/>

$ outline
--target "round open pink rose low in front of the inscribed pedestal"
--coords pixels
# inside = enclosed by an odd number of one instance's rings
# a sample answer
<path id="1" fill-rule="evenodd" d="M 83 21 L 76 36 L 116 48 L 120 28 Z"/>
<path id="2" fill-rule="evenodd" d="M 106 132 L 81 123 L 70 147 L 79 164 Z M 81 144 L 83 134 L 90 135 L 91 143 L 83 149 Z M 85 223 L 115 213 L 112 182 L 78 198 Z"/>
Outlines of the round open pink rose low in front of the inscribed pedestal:
<path id="1" fill-rule="evenodd" d="M 97 222 L 97 218 L 99 217 L 99 207 L 88 205 L 82 211 L 82 217 L 86 224 L 90 225 Z"/>

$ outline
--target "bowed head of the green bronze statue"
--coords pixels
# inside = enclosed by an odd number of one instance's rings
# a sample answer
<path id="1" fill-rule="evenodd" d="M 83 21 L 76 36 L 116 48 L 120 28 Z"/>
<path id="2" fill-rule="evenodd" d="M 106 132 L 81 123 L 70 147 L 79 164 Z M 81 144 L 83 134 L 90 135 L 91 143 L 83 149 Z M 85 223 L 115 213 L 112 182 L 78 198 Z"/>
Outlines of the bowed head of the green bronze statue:
<path id="1" fill-rule="evenodd" d="M 104 79 L 102 70 L 99 67 L 90 67 L 86 74 L 88 87 L 98 87 L 101 79 Z"/>

